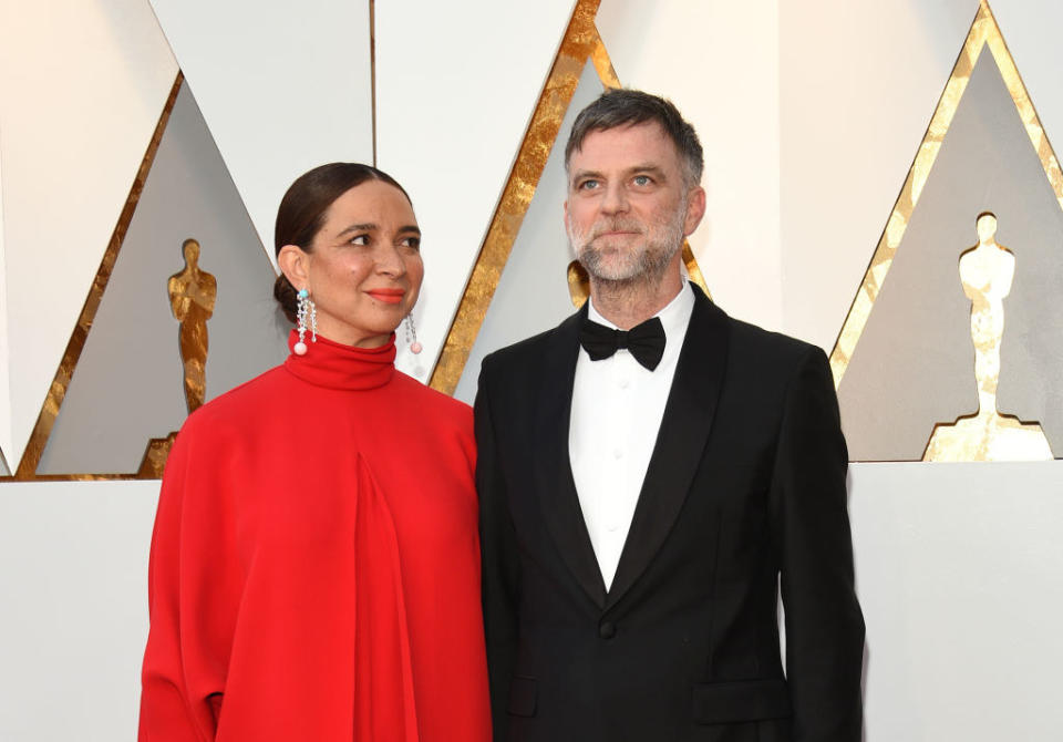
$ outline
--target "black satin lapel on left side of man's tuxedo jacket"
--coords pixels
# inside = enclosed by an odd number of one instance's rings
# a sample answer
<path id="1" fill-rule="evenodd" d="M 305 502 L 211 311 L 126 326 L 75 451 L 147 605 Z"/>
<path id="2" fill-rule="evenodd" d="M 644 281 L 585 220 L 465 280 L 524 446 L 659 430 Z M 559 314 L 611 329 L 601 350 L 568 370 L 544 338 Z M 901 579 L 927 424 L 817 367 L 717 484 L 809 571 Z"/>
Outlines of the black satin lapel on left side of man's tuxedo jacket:
<path id="1" fill-rule="evenodd" d="M 568 425 L 572 410 L 572 383 L 579 357 L 579 327 L 586 306 L 565 320 L 548 351 L 539 385 L 535 441 L 537 492 L 541 493 L 543 518 L 576 581 L 599 607 L 606 601 L 595 548 L 579 508 L 576 482 L 568 456 Z"/>

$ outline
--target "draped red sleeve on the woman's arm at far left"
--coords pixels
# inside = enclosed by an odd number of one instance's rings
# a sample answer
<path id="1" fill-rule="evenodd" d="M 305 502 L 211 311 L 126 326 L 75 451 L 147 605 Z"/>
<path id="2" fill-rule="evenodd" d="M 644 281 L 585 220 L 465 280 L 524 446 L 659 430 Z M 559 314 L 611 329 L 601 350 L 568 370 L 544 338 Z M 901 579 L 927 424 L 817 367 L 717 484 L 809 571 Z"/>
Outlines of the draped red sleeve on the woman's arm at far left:
<path id="1" fill-rule="evenodd" d="M 215 739 L 225 690 L 240 578 L 217 442 L 196 422 L 174 443 L 155 516 L 140 742 Z"/>

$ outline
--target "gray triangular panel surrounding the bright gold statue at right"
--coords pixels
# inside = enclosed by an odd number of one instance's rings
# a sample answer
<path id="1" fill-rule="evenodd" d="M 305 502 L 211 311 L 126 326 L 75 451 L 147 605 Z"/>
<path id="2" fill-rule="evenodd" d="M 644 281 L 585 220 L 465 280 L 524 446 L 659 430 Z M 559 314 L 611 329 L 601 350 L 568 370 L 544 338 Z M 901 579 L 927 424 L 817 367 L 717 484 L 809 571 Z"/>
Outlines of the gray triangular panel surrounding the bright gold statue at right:
<path id="1" fill-rule="evenodd" d="M 838 389 L 852 460 L 919 460 L 935 423 L 978 410 L 959 256 L 982 212 L 1016 258 L 998 409 L 1063 452 L 1063 212 L 987 48 Z"/>

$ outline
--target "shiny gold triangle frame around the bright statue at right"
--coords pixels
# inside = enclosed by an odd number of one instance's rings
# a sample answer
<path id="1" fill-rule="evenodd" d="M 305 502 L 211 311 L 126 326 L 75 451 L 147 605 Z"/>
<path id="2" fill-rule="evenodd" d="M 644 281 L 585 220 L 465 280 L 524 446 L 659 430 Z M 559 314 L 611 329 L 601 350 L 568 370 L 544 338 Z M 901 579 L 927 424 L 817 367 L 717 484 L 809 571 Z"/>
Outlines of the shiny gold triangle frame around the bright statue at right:
<path id="1" fill-rule="evenodd" d="M 919 203 L 919 196 L 933 167 L 941 143 L 945 141 L 949 126 L 952 124 L 952 118 L 956 116 L 960 99 L 963 97 L 963 92 L 967 90 L 968 82 L 970 82 L 974 63 L 987 45 L 993 55 L 997 68 L 1000 70 L 1008 92 L 1014 101 L 1015 109 L 1018 109 L 1026 128 L 1026 134 L 1030 136 L 1030 142 L 1033 144 L 1033 148 L 1044 168 L 1044 174 L 1049 178 L 1053 193 L 1055 193 L 1056 202 L 1063 208 L 1063 173 L 1060 171 L 1060 163 L 1049 144 L 1049 137 L 1041 125 L 1041 120 L 1033 109 L 1030 94 L 1026 92 L 1025 85 L 1022 84 L 1019 69 L 1008 52 L 997 19 L 993 17 L 987 0 L 981 0 L 978 13 L 974 16 L 974 22 L 971 24 L 971 30 L 963 42 L 960 55 L 952 68 L 952 74 L 949 76 L 945 92 L 941 93 L 938 106 L 930 118 L 927 134 L 919 145 L 915 162 L 911 169 L 908 171 L 908 177 L 900 190 L 900 196 L 894 204 L 894 210 L 886 223 L 878 247 L 875 248 L 870 265 L 864 275 L 864 280 L 853 299 L 845 323 L 842 326 L 842 331 L 834 344 L 834 350 L 830 353 L 830 369 L 834 373 L 835 388 L 842 383 L 849 359 L 853 358 L 853 352 L 856 350 L 864 327 L 867 324 L 875 307 L 875 300 L 878 298 L 883 282 L 892 265 L 897 247 L 900 245 L 908 221 Z"/>

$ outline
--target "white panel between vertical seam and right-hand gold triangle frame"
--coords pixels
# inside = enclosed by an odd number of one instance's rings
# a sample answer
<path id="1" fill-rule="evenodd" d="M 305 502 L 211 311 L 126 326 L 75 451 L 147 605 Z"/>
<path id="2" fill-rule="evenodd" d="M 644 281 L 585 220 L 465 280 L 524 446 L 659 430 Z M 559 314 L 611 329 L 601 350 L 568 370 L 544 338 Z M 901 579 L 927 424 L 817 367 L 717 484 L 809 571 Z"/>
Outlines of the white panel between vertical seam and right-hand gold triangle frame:
<path id="1" fill-rule="evenodd" d="M 783 329 L 829 351 L 978 0 L 778 4 Z"/>

